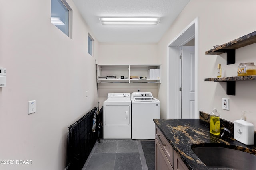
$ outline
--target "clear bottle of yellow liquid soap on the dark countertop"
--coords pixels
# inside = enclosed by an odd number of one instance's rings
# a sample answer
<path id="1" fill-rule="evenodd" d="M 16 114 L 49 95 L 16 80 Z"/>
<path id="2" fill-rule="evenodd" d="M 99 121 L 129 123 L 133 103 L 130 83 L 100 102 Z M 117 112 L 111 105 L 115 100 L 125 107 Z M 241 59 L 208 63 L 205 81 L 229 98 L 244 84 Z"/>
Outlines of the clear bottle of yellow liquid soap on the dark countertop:
<path id="1" fill-rule="evenodd" d="M 220 113 L 216 108 L 213 108 L 210 115 L 210 133 L 213 135 L 220 135 Z"/>

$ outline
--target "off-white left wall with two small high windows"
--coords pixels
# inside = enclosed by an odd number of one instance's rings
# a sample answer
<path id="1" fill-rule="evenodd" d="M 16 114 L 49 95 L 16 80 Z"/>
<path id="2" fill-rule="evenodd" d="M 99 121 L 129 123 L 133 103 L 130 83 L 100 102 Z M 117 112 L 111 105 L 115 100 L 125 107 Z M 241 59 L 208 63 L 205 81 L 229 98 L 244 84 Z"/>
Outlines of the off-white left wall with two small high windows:
<path id="1" fill-rule="evenodd" d="M 50 22 L 51 0 L 0 2 L 0 66 L 7 68 L 7 86 L 0 88 L 0 160 L 32 160 L 0 169 L 64 170 L 68 126 L 97 106 L 90 30 L 67 2 L 72 39 Z M 30 115 L 29 100 L 36 100 Z"/>

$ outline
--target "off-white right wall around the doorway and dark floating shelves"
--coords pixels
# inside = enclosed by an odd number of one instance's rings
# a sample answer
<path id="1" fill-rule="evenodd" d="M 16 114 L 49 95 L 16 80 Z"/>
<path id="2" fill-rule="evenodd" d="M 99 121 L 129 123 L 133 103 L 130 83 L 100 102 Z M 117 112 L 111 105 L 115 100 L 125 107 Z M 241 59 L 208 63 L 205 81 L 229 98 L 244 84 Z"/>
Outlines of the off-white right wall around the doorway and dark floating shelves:
<path id="1" fill-rule="evenodd" d="M 205 55 L 204 52 L 214 45 L 221 45 L 238 37 L 256 31 L 254 7 L 255 0 L 190 0 L 170 29 L 158 43 L 158 56 L 162 64 L 162 77 L 167 76 L 167 46 L 189 23 L 199 18 L 199 67 L 198 67 L 198 102 L 199 110 L 210 113 L 213 107 L 220 112 L 220 117 L 228 121 L 240 119 L 241 111 L 252 113 L 247 120 L 256 125 L 255 94 L 256 81 L 236 82 L 236 96 L 226 95 L 225 82 L 204 82 L 204 78 L 216 77 L 217 64 L 222 65 L 222 76 L 236 76 L 239 63 L 256 63 L 256 44 L 236 50 L 236 63 L 226 65 L 226 53 Z M 170 77 L 173 78 L 173 77 Z M 166 113 L 165 91 L 167 81 L 162 78 L 158 98 L 161 111 Z M 230 99 L 230 110 L 221 108 L 221 98 Z M 170 109 L 172 111 L 172 109 Z M 167 117 L 167 114 L 165 116 Z M 162 116 L 162 114 L 161 114 Z M 164 117 L 162 117 L 164 118 Z"/>

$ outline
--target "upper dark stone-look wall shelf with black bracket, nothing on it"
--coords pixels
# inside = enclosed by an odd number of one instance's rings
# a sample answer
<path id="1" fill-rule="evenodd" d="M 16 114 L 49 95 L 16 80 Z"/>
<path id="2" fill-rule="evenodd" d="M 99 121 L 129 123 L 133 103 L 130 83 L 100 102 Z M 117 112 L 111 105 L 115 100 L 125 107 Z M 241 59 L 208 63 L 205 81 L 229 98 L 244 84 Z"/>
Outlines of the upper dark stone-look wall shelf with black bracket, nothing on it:
<path id="1" fill-rule="evenodd" d="M 227 65 L 236 63 L 236 49 L 256 43 L 256 31 L 234 39 L 222 45 L 216 45 L 213 49 L 206 51 L 204 54 L 218 55 L 227 53 Z"/>

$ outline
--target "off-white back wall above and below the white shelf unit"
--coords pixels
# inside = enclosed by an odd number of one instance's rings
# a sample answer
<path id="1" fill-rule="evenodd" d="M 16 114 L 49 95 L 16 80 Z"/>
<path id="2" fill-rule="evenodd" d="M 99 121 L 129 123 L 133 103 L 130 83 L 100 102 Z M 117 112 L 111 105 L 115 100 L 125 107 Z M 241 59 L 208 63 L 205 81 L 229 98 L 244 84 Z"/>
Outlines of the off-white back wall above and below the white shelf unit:
<path id="1" fill-rule="evenodd" d="M 157 43 L 99 43 L 97 64 L 159 64 Z M 158 85 L 152 83 L 101 83 L 99 84 L 99 107 L 108 93 L 152 92 L 158 97 Z"/>

